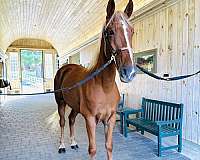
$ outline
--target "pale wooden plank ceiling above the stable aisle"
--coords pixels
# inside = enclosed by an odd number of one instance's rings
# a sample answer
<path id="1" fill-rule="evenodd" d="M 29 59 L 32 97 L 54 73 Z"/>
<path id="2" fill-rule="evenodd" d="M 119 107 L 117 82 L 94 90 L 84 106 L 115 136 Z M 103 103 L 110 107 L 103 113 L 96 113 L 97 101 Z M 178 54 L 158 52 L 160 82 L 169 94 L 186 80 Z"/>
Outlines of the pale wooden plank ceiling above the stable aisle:
<path id="1" fill-rule="evenodd" d="M 134 0 L 137 10 L 152 0 Z M 17 39 L 50 42 L 59 54 L 101 31 L 108 0 L 0 0 L 0 48 Z M 128 0 L 115 0 L 124 9 Z"/>

